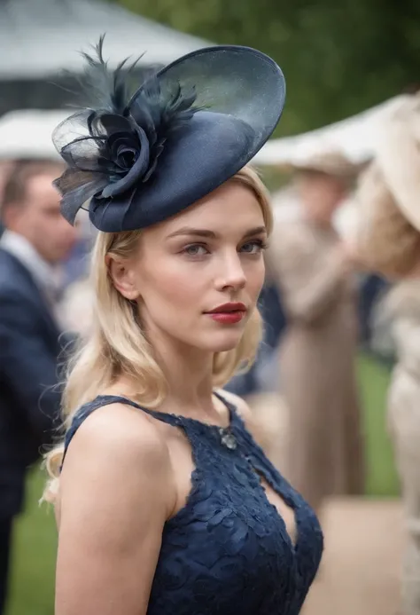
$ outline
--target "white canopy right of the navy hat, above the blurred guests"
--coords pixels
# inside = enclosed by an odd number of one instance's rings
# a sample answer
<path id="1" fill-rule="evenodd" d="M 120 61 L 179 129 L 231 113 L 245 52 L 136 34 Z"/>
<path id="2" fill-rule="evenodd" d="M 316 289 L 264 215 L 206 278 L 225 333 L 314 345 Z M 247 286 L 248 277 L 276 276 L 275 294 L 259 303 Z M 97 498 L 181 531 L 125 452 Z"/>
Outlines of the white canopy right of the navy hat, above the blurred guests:
<path id="1" fill-rule="evenodd" d="M 255 156 L 261 166 L 303 167 L 323 155 L 341 155 L 358 166 L 375 155 L 377 138 L 390 114 L 408 95 L 386 100 L 368 111 L 294 137 L 273 138 Z"/>

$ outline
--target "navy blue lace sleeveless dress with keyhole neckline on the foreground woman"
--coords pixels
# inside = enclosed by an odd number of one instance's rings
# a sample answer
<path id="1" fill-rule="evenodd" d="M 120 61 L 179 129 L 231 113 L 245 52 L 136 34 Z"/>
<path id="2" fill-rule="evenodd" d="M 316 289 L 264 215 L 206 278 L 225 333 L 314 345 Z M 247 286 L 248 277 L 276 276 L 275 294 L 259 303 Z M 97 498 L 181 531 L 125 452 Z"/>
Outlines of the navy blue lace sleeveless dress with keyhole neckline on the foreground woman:
<path id="1" fill-rule="evenodd" d="M 191 493 L 164 526 L 147 615 L 297 615 L 314 580 L 323 551 L 315 513 L 223 401 L 228 429 L 103 396 L 82 406 L 67 432 L 66 446 L 90 413 L 118 402 L 183 429 L 191 442 Z M 294 545 L 260 476 L 295 512 Z"/>

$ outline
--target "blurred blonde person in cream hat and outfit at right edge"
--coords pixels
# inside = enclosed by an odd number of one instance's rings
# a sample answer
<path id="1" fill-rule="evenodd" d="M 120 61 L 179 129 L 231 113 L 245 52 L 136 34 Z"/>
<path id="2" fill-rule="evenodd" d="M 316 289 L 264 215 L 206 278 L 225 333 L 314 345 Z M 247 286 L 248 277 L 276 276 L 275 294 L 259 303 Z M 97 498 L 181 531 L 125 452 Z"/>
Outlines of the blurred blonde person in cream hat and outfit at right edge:
<path id="1" fill-rule="evenodd" d="M 386 126 L 377 159 L 356 194 L 361 224 L 357 257 L 398 282 L 386 300 L 397 364 L 388 393 L 388 424 L 401 478 L 407 531 L 402 612 L 420 613 L 420 98 Z"/>

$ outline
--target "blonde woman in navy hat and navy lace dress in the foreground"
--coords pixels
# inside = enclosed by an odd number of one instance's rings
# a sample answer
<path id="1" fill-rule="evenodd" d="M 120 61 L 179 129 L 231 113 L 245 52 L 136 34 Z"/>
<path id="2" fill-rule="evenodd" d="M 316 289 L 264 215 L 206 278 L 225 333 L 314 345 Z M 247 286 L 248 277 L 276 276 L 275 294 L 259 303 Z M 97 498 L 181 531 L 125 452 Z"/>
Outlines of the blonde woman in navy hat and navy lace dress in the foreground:
<path id="1" fill-rule="evenodd" d="M 272 219 L 244 167 L 278 122 L 283 75 L 258 51 L 210 48 L 127 105 L 100 48 L 99 60 L 93 81 L 113 91 L 54 135 L 63 213 L 90 199 L 99 231 L 93 327 L 49 458 L 56 615 L 295 615 L 322 532 L 255 444 L 245 404 L 214 390 L 260 335 Z"/>

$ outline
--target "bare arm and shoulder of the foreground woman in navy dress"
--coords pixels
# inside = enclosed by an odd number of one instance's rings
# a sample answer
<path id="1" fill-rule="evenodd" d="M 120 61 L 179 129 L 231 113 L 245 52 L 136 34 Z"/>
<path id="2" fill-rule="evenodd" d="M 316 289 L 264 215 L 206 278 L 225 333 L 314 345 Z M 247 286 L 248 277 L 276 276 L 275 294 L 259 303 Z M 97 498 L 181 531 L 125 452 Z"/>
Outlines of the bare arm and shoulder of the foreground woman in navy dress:
<path id="1" fill-rule="evenodd" d="M 175 488 L 158 427 L 106 406 L 68 447 L 59 497 L 55 615 L 144 615 Z"/>

